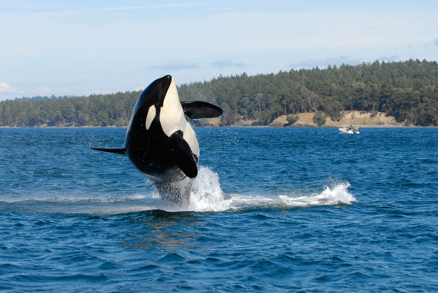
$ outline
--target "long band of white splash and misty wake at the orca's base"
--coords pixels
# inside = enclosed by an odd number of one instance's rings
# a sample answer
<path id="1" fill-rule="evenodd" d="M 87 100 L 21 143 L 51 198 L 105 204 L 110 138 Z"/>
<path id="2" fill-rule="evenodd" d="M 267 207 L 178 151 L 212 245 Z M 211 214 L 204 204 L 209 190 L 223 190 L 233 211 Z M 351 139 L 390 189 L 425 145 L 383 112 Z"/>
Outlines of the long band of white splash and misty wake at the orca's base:
<path id="1" fill-rule="evenodd" d="M 27 208 L 45 212 L 73 212 L 119 214 L 148 210 L 165 210 L 167 212 L 224 212 L 248 208 L 290 208 L 311 207 L 319 205 L 350 205 L 356 198 L 347 191 L 349 183 L 336 184 L 332 188 L 324 186 L 320 194 L 225 194 L 219 184 L 219 176 L 212 170 L 201 167 L 198 177 L 193 182 L 189 206 L 181 208 L 164 202 L 158 191 L 151 190 L 145 194 L 109 196 L 101 194 L 77 196 L 45 196 L 38 198 L 11 199 L 9 202 L 27 203 Z M 259 195 L 263 194 L 263 195 Z"/>

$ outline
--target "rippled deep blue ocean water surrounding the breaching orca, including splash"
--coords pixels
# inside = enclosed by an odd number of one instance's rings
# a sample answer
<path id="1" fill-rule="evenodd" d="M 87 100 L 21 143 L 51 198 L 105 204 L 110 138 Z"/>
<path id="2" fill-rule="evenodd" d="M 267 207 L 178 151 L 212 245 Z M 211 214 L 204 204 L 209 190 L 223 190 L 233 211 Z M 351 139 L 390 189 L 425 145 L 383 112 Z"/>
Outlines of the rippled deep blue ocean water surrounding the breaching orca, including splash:
<path id="1" fill-rule="evenodd" d="M 438 128 L 195 128 L 190 206 L 125 128 L 0 128 L 1 292 L 438 292 Z"/>

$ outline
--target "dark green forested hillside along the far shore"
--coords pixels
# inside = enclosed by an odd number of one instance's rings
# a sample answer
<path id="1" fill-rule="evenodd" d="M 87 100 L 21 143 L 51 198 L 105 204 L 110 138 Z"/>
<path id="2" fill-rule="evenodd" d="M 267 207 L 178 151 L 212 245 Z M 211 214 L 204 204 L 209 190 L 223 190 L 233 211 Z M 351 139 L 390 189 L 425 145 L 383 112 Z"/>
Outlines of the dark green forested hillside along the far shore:
<path id="1" fill-rule="evenodd" d="M 344 110 L 380 111 L 406 124 L 438 125 L 436 61 L 376 60 L 277 74 L 243 73 L 183 84 L 178 92 L 181 100 L 203 100 L 222 107 L 223 126 L 240 119 L 267 125 L 284 114 L 318 111 L 339 121 Z M 140 93 L 2 101 L 0 126 L 127 126 Z"/>

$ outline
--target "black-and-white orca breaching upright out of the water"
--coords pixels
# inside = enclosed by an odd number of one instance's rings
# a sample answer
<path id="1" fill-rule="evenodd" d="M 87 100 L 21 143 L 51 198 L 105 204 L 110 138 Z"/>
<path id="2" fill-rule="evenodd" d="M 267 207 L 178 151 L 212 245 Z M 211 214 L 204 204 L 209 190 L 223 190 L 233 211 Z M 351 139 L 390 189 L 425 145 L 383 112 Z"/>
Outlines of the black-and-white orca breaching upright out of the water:
<path id="1" fill-rule="evenodd" d="M 187 206 L 199 159 L 198 137 L 187 117 L 214 118 L 222 113 L 208 102 L 180 102 L 174 79 L 166 75 L 138 97 L 123 148 L 91 149 L 126 155 L 164 201 Z"/>

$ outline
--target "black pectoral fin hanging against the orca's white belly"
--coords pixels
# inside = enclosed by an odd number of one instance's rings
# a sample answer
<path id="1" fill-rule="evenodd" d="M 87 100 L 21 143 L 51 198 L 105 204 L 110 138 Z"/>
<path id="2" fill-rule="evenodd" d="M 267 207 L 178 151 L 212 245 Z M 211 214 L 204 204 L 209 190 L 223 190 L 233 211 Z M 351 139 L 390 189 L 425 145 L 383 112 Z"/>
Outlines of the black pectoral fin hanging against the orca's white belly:
<path id="1" fill-rule="evenodd" d="M 173 147 L 175 163 L 189 178 L 198 175 L 198 165 L 194 159 L 193 153 L 187 141 L 184 140 L 181 131 L 176 131 L 170 136 L 170 143 Z"/>

